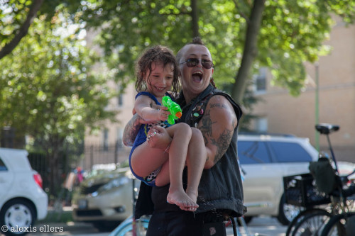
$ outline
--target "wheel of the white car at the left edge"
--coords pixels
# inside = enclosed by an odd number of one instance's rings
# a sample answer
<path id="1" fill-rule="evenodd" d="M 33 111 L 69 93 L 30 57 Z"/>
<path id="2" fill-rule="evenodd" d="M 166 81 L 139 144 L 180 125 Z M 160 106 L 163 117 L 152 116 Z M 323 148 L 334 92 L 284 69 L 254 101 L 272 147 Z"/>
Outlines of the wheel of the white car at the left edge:
<path id="1" fill-rule="evenodd" d="M 1 230 L 6 236 L 21 236 L 27 232 L 11 232 L 11 227 L 17 229 L 25 229 L 33 226 L 35 222 L 35 210 L 27 201 L 16 199 L 9 201 L 4 205 L 0 212 Z"/>

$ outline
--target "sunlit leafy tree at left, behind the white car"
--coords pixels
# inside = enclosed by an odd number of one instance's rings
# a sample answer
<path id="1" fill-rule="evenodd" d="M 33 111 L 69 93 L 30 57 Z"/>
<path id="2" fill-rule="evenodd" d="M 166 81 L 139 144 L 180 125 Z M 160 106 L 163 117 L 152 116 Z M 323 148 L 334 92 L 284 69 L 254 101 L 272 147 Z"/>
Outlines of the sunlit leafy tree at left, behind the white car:
<path id="1" fill-rule="evenodd" d="M 51 21 L 36 18 L 28 35 L 1 60 L 0 125 L 30 135 L 50 162 L 50 191 L 60 186 L 58 161 L 65 144 L 83 142 L 86 128 L 111 118 L 108 74 L 89 69 L 97 55 L 83 45 L 82 28 L 65 9 Z M 101 71 L 99 71 L 101 72 Z"/>

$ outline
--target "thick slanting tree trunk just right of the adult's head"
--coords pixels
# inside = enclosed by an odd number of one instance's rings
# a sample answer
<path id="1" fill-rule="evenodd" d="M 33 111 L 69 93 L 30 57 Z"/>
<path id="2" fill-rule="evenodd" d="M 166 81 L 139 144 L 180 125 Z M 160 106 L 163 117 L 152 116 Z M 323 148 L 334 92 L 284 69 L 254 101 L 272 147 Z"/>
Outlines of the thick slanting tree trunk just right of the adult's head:
<path id="1" fill-rule="evenodd" d="M 248 21 L 248 27 L 246 29 L 246 40 L 243 57 L 241 59 L 241 67 L 236 74 L 236 81 L 233 84 L 231 92 L 231 96 L 239 104 L 242 104 L 253 61 L 258 54 L 258 34 L 264 8 L 265 0 L 254 0 L 253 9 L 251 10 L 251 16 L 249 18 L 250 21 Z"/>

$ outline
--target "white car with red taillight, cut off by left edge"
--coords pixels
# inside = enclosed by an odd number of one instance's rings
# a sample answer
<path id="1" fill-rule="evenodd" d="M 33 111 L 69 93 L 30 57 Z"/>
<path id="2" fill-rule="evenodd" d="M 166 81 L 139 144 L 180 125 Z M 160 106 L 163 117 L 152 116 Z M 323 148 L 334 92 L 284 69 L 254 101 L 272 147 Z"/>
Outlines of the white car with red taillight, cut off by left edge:
<path id="1" fill-rule="evenodd" d="M 27 156 L 26 150 L 0 148 L 0 232 L 4 235 L 25 235 L 27 232 L 21 232 L 25 227 L 47 215 L 42 178 Z"/>

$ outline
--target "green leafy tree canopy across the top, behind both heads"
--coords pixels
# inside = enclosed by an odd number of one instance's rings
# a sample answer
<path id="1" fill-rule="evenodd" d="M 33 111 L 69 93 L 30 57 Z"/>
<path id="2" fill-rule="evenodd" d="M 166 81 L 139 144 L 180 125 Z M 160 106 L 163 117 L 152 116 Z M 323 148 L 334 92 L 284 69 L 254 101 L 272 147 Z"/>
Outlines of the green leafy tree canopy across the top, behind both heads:
<path id="1" fill-rule="evenodd" d="M 98 42 L 108 65 L 119 68 L 116 78 L 124 83 L 134 78 L 133 62 L 145 47 L 163 44 L 177 51 L 201 35 L 214 57 L 217 84 L 233 84 L 239 103 L 251 72 L 263 66 L 271 69 L 273 84 L 300 94 L 303 62 L 315 62 L 329 50 L 322 43 L 332 16 L 352 23 L 355 12 L 354 0 L 53 0 L 45 1 L 40 12 L 52 16 L 58 6 L 81 18 L 86 28 L 100 28 Z"/>

